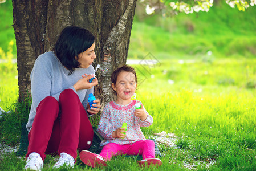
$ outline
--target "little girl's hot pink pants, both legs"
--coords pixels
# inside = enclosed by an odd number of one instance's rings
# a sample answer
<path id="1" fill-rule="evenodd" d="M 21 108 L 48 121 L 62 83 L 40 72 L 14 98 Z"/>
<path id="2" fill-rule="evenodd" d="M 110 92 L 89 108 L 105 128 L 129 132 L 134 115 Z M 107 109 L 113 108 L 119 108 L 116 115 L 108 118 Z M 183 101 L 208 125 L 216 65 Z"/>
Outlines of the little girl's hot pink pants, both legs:
<path id="1" fill-rule="evenodd" d="M 152 140 L 136 141 L 133 144 L 119 145 L 109 143 L 100 152 L 100 156 L 106 160 L 111 160 L 112 156 L 117 155 L 142 155 L 145 158 L 155 158 L 155 143 Z"/>

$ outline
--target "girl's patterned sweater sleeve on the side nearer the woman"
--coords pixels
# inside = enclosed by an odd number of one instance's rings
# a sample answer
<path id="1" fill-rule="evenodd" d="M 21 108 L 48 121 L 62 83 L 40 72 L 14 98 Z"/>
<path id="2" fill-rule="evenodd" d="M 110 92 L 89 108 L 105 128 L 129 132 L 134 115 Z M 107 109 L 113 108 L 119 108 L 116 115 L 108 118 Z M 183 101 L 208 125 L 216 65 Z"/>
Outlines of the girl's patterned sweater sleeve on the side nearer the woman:
<path id="1" fill-rule="evenodd" d="M 115 130 L 111 123 L 111 112 L 109 110 L 109 105 L 107 104 L 101 113 L 97 132 L 99 132 L 104 139 L 112 140 L 113 131 Z"/>

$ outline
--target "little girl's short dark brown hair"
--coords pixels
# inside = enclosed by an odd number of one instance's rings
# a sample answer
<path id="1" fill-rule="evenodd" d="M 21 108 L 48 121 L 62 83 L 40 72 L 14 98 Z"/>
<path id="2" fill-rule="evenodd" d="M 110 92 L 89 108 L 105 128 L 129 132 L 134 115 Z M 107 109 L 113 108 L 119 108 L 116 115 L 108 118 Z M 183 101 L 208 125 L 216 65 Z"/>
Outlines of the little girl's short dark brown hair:
<path id="1" fill-rule="evenodd" d="M 119 67 L 119 68 L 116 68 L 115 71 L 113 71 L 112 75 L 111 75 L 111 84 L 116 84 L 116 81 L 117 81 L 117 76 L 120 74 L 120 72 L 122 71 L 126 71 L 126 72 L 131 72 L 132 74 L 135 75 L 135 83 L 137 84 L 137 75 L 136 75 L 136 71 L 133 67 L 131 66 L 128 66 L 128 65 L 124 65 L 123 67 Z M 111 86 L 112 88 L 112 86 Z M 113 89 L 113 88 L 112 88 Z M 113 92 L 115 93 L 116 95 L 116 91 L 113 89 Z"/>

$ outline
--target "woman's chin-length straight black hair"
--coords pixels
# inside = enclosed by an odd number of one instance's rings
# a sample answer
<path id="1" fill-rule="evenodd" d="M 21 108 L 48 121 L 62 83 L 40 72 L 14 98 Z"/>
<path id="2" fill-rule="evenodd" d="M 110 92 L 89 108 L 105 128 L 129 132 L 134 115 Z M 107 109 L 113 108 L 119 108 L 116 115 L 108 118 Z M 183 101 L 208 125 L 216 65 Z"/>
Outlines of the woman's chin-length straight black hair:
<path id="1" fill-rule="evenodd" d="M 95 36 L 82 27 L 68 26 L 60 32 L 53 51 L 63 66 L 70 70 L 68 75 L 74 68 L 79 68 L 78 54 L 90 48 L 94 40 Z"/>

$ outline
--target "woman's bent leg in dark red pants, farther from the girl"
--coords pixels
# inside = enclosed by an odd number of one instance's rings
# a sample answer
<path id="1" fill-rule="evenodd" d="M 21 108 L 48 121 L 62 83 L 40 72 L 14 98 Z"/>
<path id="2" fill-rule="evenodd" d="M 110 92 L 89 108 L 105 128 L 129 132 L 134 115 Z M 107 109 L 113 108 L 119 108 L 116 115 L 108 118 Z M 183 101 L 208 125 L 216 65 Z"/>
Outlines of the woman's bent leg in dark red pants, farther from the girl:
<path id="1" fill-rule="evenodd" d="M 29 157 L 30 153 L 36 152 L 40 154 L 43 160 L 46 158 L 44 152 L 46 151 L 48 141 L 51 137 L 52 127 L 58 118 L 58 114 L 59 104 L 54 97 L 48 96 L 39 103 L 28 136 L 29 146 L 26 157 Z"/>

